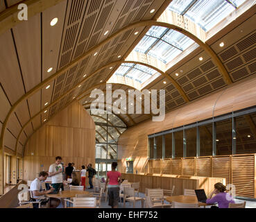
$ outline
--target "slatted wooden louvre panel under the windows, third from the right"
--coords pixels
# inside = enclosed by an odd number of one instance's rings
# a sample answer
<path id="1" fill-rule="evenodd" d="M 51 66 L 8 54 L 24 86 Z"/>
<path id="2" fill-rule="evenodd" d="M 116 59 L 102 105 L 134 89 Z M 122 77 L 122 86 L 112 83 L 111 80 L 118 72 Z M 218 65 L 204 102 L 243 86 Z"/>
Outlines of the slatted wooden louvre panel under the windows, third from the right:
<path id="1" fill-rule="evenodd" d="M 196 176 L 211 177 L 211 157 L 196 158 Z"/>

